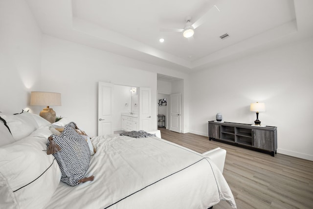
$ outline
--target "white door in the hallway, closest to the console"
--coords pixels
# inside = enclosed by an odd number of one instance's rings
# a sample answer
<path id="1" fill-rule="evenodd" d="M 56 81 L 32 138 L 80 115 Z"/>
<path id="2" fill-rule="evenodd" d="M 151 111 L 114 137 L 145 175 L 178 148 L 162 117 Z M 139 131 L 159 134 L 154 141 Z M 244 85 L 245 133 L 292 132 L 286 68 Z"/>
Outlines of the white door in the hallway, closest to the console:
<path id="1" fill-rule="evenodd" d="M 170 131 L 180 133 L 180 93 L 170 95 Z"/>

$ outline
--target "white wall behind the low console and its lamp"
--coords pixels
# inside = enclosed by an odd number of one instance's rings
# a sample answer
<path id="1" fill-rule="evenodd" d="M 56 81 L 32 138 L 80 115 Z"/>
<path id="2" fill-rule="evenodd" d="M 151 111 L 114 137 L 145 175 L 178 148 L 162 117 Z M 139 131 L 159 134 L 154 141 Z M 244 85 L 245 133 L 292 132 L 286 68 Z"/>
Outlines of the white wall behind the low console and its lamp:
<path id="1" fill-rule="evenodd" d="M 207 136 L 207 121 L 253 123 L 252 102 L 265 102 L 259 119 L 277 126 L 278 153 L 313 160 L 313 38 L 191 74 L 190 132 Z"/>

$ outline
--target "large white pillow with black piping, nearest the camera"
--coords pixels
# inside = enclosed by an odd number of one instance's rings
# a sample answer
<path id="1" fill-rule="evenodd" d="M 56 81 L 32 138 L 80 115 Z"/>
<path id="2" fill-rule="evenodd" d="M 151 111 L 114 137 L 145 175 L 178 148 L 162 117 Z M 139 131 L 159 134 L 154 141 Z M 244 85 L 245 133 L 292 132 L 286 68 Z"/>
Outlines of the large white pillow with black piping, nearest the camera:
<path id="1" fill-rule="evenodd" d="M 43 131 L 0 147 L 1 208 L 44 208 L 59 185 L 59 165 L 46 154 L 46 139 L 37 139 Z"/>

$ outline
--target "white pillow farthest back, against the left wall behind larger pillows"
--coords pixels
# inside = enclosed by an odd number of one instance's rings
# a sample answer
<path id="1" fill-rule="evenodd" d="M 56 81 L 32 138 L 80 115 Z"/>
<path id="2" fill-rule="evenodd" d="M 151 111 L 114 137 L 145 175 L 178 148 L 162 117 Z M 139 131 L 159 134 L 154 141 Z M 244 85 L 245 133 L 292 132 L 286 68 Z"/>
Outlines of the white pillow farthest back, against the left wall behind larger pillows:
<path id="1" fill-rule="evenodd" d="M 39 127 L 34 117 L 30 116 L 29 113 L 17 115 L 0 113 L 0 116 L 5 119 L 15 140 L 29 136 Z"/>

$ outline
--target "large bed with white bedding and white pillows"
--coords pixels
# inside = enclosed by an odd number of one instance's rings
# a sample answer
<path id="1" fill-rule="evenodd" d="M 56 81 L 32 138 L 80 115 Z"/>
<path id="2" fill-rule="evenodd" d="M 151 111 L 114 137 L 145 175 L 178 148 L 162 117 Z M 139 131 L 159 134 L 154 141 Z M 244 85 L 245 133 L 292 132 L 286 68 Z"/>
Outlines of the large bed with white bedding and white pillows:
<path id="1" fill-rule="evenodd" d="M 46 154 L 53 124 L 30 113 L 0 116 L 5 141 L 0 146 L 0 208 L 208 209 L 221 200 L 236 208 L 210 153 L 155 136 L 98 136 L 90 140 L 95 153 L 86 173 L 93 181 L 69 186 L 60 182 L 58 163 Z"/>

